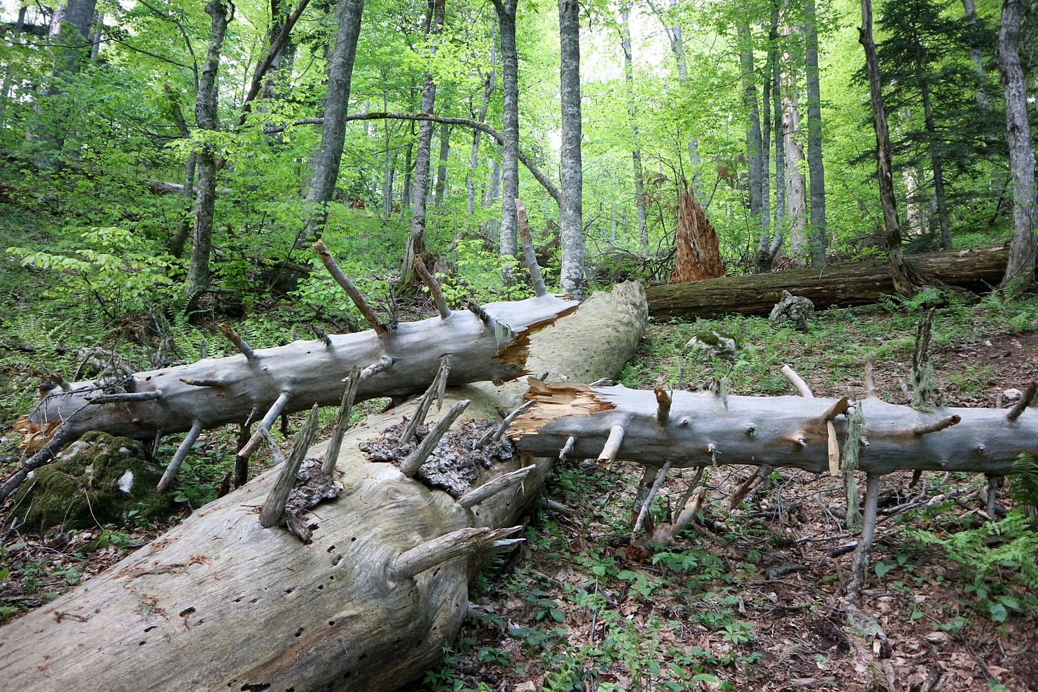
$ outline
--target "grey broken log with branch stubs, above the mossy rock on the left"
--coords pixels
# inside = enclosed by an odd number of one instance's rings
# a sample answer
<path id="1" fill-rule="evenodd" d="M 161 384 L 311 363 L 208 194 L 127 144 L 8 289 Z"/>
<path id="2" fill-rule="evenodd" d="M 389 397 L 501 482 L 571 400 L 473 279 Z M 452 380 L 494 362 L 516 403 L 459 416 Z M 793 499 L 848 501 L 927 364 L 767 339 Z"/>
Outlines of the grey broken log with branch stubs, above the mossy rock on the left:
<path id="1" fill-rule="evenodd" d="M 577 305 L 550 295 L 473 305 L 470 310 L 452 311 L 443 305 L 440 316 L 390 328 L 378 321 L 320 241 L 317 250 L 372 329 L 275 349 L 252 349 L 234 329 L 220 325 L 241 355 L 203 358 L 187 365 L 128 373 L 114 381 L 62 381 L 29 414 L 30 431 L 38 440 L 35 446 L 42 449 L 4 480 L 0 500 L 28 471 L 49 463 L 61 446 L 92 431 L 137 440 L 187 432 L 170 463 L 171 473 L 164 477 L 165 489 L 202 430 L 227 423 L 248 427 L 254 420 L 261 428 L 269 430 L 281 414 L 305 411 L 313 404 L 337 405 L 346 388 L 344 379 L 354 367 L 362 368 L 357 402 L 378 396 L 402 400 L 421 391 L 436 376 L 443 358 L 450 367 L 449 386 L 512 380 L 527 371 L 529 335 Z M 431 276 L 428 279 L 433 281 Z M 54 444 L 45 446 L 48 438 Z M 260 442 L 257 431 L 240 458 L 247 459 Z M 244 482 L 244 474 L 239 482 Z"/>

